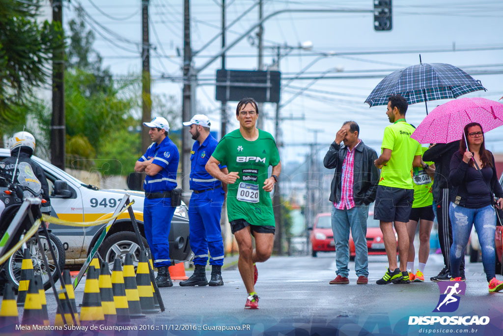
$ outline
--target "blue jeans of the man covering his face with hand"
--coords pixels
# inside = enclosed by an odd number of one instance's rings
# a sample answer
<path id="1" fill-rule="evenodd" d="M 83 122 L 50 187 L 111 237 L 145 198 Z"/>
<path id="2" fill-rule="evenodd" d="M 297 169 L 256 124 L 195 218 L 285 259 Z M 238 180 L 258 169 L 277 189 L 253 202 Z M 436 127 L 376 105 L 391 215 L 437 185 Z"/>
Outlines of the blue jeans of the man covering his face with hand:
<path id="1" fill-rule="evenodd" d="M 369 257 L 367 251 L 367 217 L 369 206 L 356 206 L 352 209 L 339 210 L 332 207 L 332 231 L 336 241 L 336 274 L 349 275 L 349 232 L 355 242 L 355 272 L 357 276 L 369 276 Z"/>

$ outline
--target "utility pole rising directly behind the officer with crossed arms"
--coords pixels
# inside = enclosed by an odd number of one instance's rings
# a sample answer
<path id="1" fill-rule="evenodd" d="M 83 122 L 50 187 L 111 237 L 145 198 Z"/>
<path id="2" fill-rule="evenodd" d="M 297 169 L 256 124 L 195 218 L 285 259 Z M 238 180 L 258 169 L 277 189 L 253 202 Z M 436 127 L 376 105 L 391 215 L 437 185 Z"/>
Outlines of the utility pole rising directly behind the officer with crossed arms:
<path id="1" fill-rule="evenodd" d="M 148 32 L 148 1 L 141 1 L 141 122 L 151 119 L 152 100 L 150 99 L 150 42 Z M 145 153 L 150 146 L 148 128 L 141 127 L 141 152 Z"/>

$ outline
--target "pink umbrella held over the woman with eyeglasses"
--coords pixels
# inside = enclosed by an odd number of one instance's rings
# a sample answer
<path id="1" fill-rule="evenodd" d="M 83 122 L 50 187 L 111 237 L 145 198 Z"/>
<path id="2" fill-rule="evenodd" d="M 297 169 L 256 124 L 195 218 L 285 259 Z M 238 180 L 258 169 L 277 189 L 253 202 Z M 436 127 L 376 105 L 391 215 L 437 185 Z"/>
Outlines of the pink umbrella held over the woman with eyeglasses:
<path id="1" fill-rule="evenodd" d="M 503 104 L 485 98 L 451 100 L 433 109 L 411 138 L 420 144 L 447 144 L 460 140 L 470 122 L 478 122 L 484 132 L 503 125 Z"/>

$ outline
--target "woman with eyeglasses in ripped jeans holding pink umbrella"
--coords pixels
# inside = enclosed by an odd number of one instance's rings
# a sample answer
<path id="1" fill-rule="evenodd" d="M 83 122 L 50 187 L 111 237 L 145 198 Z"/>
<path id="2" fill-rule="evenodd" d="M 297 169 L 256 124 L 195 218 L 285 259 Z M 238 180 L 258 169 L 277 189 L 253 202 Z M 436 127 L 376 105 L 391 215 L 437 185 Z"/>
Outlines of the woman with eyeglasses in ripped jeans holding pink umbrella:
<path id="1" fill-rule="evenodd" d="M 449 217 L 453 231 L 451 281 L 461 281 L 459 265 L 465 255 L 472 225 L 475 225 L 489 292 L 498 292 L 503 289 L 503 281 L 495 277 L 496 213 L 492 205 L 499 209 L 503 207 L 503 190 L 497 180 L 494 157 L 485 149 L 484 132 L 478 122 L 464 127 L 464 137 L 459 144 L 459 151 L 451 159 L 449 175 L 452 185 Z M 495 203 L 493 195 L 498 198 Z"/>

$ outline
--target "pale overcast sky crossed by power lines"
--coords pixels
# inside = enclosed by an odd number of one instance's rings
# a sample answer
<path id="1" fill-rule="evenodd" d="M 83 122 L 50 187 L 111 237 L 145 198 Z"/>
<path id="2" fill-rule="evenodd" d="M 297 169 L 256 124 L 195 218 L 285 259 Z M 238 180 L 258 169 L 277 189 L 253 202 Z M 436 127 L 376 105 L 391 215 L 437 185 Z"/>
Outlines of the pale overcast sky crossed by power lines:
<path id="1" fill-rule="evenodd" d="M 180 81 L 182 57 L 177 48 L 183 50 L 183 1 L 150 0 L 150 41 L 155 46 L 151 58 L 152 91 L 175 95 L 181 106 L 182 84 Z M 199 0 L 191 2 L 192 48 L 199 50 L 213 36 L 220 33 L 220 0 Z M 227 23 L 232 22 L 242 12 L 252 6 L 252 0 L 226 0 Z M 74 7 L 81 4 L 97 22 L 95 48 L 104 57 L 104 64 L 110 66 L 117 77 L 128 73 L 139 73 L 141 62 L 141 11 L 138 0 L 72 0 L 65 4 L 64 21 L 67 23 L 75 15 Z M 98 7 L 98 8 L 97 8 Z M 353 1 L 286 1 L 264 0 L 264 16 L 283 9 L 356 9 L 372 10 L 371 0 Z M 476 72 L 473 77 L 482 82 L 487 92 L 478 91 L 461 97 L 480 96 L 498 100 L 503 96 L 503 2 L 477 2 L 459 0 L 426 0 L 422 2 L 393 1 L 393 29 L 390 32 L 376 32 L 373 29 L 371 13 L 285 13 L 274 16 L 264 24 L 264 44 L 268 47 L 281 45 L 298 46 L 311 41 L 310 51 L 291 50 L 281 58 L 284 78 L 294 77 L 309 63 L 317 61 L 307 70 L 306 75 L 319 76 L 368 76 L 370 79 L 320 79 L 293 81 L 282 91 L 285 103 L 299 90 L 309 88 L 281 110 L 283 141 L 289 146 L 282 151 L 282 160 L 304 160 L 308 148 L 293 146 L 310 143 L 314 139 L 312 129 L 318 129 L 318 143 L 328 145 L 335 137 L 343 121 L 352 119 L 360 124 L 360 137 L 368 145 L 380 151 L 384 127 L 389 124 L 385 115 L 386 107 L 369 108 L 365 98 L 387 74 L 405 66 L 419 63 L 419 53 L 423 62 L 450 63 L 467 72 Z M 258 21 L 258 7 L 250 11 L 229 29 L 227 43 L 243 35 Z M 92 21 L 91 21 L 92 22 Z M 98 33 L 99 32 L 99 33 Z M 252 34 L 254 35 L 254 34 Z M 220 49 L 217 39 L 195 57 L 197 67 L 203 65 L 209 56 Z M 452 51 L 452 50 L 456 51 Z M 466 49 L 473 49 L 464 51 Z M 443 52 L 432 52 L 446 50 Z M 450 51 L 447 51 L 450 50 Z M 320 53 L 361 52 L 348 56 L 320 57 Z M 369 51 L 413 51 L 410 53 L 368 54 Z M 286 52 L 283 49 L 282 52 Z M 264 63 L 271 64 L 273 51 L 266 48 Z M 367 54 L 365 54 L 367 53 Z M 257 47 L 244 38 L 227 53 L 227 69 L 256 70 L 258 65 Z M 209 109 L 213 125 L 220 122 L 220 102 L 215 100 L 215 72 L 220 68 L 217 60 L 201 72 L 197 89 L 199 107 Z M 482 74 L 496 73 L 496 74 Z M 161 77 L 174 77 L 173 81 Z M 285 84 L 286 81 L 283 81 Z M 206 84 L 206 85 L 203 85 Z M 444 101 L 428 103 L 431 111 Z M 503 102 L 503 101 L 502 101 Z M 229 129 L 238 127 L 234 118 L 235 102 L 229 103 Z M 274 135 L 274 104 L 265 104 L 265 130 Z M 425 104 L 411 105 L 407 121 L 418 125 L 426 115 Z M 293 118 L 290 118 L 293 116 Z M 173 125 L 174 126 L 174 125 Z M 219 128 L 219 127 L 215 127 Z M 486 137 L 487 148 L 503 152 L 503 131 L 496 129 Z M 320 155 L 326 151 L 321 147 Z"/>

